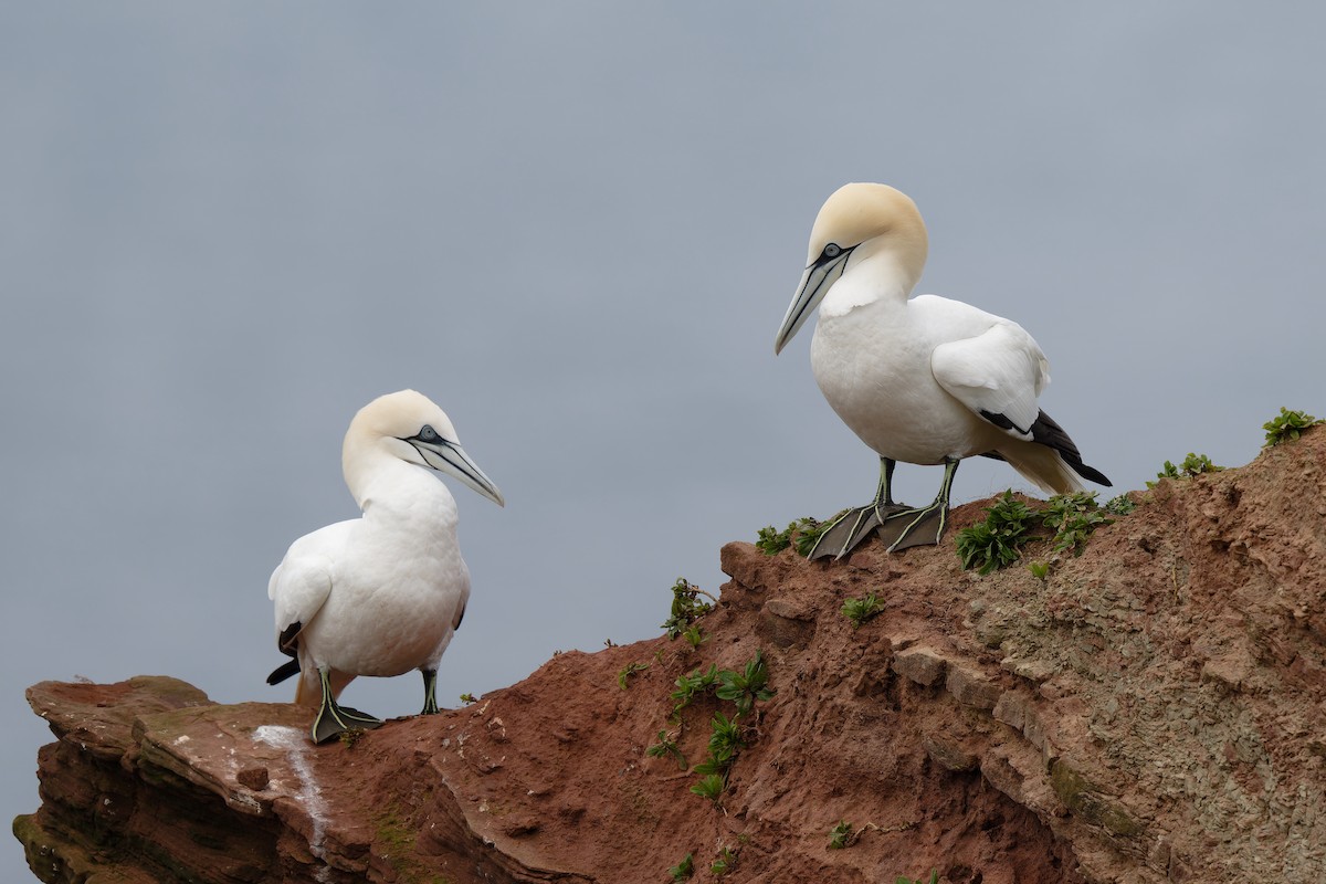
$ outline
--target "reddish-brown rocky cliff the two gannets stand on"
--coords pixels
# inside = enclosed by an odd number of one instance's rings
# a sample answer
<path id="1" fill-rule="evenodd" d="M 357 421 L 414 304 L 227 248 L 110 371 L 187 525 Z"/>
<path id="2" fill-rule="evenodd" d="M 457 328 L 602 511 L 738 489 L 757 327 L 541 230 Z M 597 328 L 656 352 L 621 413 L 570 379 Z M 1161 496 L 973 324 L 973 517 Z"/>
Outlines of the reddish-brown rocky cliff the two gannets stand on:
<path id="1" fill-rule="evenodd" d="M 44 683 L 15 832 L 45 881 L 1326 880 L 1326 431 L 1132 497 L 1081 557 L 1026 547 L 1044 577 L 729 543 L 699 647 L 562 653 L 321 747 L 289 705 Z M 693 794 L 679 758 L 736 706 L 674 717 L 676 681 L 757 652 L 776 693 Z"/>

